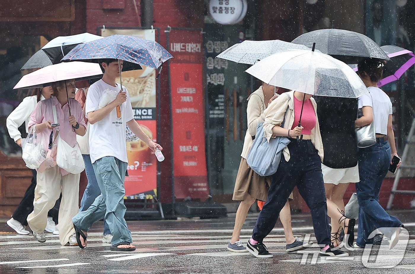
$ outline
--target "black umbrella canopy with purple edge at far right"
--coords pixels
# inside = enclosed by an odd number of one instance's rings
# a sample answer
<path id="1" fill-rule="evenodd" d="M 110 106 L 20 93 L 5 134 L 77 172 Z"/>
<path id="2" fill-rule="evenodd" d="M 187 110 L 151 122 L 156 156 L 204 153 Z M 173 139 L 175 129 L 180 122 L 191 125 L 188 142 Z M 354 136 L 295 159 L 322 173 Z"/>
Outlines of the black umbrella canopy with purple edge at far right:
<path id="1" fill-rule="evenodd" d="M 415 55 L 408 49 L 393 45 L 381 46 L 381 49 L 388 54 L 391 61 L 388 61 L 383 67 L 383 78 L 378 82 L 378 87 L 398 80 L 405 71 L 415 64 Z M 350 66 L 354 71 L 357 71 L 357 64 Z"/>

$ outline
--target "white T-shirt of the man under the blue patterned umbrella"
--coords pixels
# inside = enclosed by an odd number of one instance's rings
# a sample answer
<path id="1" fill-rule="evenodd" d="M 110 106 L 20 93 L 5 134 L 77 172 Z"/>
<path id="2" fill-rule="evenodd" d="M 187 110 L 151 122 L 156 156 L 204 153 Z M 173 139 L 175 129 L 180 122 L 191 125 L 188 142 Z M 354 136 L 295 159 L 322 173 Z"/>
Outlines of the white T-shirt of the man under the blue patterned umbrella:
<path id="1" fill-rule="evenodd" d="M 98 110 L 98 103 L 105 91 L 120 91 L 120 85 L 117 87 L 105 83 L 102 79 L 93 83 L 88 90 L 85 102 L 85 113 Z M 105 157 L 112 156 L 120 161 L 128 162 L 127 149 L 125 144 L 126 122 L 134 119 L 131 102 L 127 88 L 123 86 L 123 90 L 127 92 L 127 100 L 122 103 L 121 119 L 117 119 L 117 110 L 114 108 L 109 115 L 103 120 L 90 125 L 89 132 L 89 154 L 91 162 Z"/>

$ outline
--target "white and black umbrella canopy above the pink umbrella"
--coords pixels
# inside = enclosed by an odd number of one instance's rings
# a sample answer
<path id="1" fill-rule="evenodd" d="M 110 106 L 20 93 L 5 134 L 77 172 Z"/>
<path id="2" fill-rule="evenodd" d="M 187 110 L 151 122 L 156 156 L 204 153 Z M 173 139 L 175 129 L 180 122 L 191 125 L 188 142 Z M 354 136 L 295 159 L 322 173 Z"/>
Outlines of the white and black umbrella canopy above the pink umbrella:
<path id="1" fill-rule="evenodd" d="M 53 64 L 59 64 L 63 56 L 65 56 L 65 54 L 71 51 L 78 44 L 91 42 L 100 38 L 103 37 L 90 34 L 88 32 L 70 36 L 59 36 L 44 45 L 42 50 L 46 53 Z"/>

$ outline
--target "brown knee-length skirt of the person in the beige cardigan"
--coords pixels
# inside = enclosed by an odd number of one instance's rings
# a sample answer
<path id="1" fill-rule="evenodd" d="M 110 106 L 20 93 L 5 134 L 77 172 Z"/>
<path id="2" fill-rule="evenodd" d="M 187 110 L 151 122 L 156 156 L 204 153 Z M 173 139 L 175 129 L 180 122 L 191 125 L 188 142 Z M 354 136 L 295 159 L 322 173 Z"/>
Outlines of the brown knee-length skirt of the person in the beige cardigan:
<path id="1" fill-rule="evenodd" d="M 249 194 L 252 198 L 265 202 L 270 185 L 271 176 L 259 176 L 248 166 L 247 160 L 242 158 L 239 164 L 238 175 L 236 176 L 232 200 L 243 201 Z M 288 200 L 293 200 L 293 193 L 290 194 Z"/>

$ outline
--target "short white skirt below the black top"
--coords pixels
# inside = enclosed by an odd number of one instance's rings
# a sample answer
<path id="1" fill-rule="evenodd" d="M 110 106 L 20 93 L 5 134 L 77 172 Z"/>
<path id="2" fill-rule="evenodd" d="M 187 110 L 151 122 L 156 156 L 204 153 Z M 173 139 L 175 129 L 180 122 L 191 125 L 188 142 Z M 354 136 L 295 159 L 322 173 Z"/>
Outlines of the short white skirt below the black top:
<path id="1" fill-rule="evenodd" d="M 321 164 L 324 183 L 359 183 L 359 164 L 347 169 L 332 169 L 331 167 Z"/>

